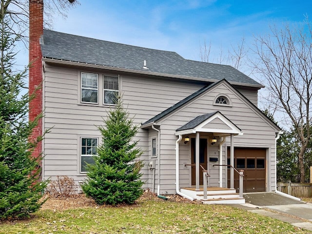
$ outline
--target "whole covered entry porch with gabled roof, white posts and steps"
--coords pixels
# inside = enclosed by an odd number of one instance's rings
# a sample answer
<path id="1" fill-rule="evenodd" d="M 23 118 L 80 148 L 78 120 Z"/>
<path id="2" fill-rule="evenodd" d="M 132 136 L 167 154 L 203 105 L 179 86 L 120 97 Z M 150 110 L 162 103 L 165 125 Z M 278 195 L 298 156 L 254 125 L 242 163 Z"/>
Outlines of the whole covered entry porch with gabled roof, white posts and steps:
<path id="1" fill-rule="evenodd" d="M 219 111 L 195 117 L 182 127 L 176 130 L 176 193 L 189 199 L 199 199 L 204 203 L 245 203 L 243 198 L 243 179 L 240 179 L 239 194 L 234 189 L 234 173 L 243 177 L 243 172 L 238 172 L 234 168 L 234 136 L 242 135 L 241 130 L 223 116 Z M 202 138 L 204 137 L 204 138 Z M 225 154 L 223 154 L 223 145 L 226 137 L 230 137 L 230 165 L 227 163 Z M 206 143 L 205 143 L 206 142 Z M 189 157 L 191 163 L 180 164 L 180 144 L 190 144 Z M 206 145 L 205 145 L 206 144 Z M 218 155 L 209 157 L 210 148 L 218 150 Z M 216 154 L 216 152 L 215 152 Z M 191 167 L 192 176 L 191 186 L 180 188 L 179 172 L 180 166 Z M 210 183 L 210 167 L 218 168 L 218 186 Z M 226 169 L 230 167 L 230 188 L 226 188 Z M 216 178 L 217 177 L 217 178 Z"/>

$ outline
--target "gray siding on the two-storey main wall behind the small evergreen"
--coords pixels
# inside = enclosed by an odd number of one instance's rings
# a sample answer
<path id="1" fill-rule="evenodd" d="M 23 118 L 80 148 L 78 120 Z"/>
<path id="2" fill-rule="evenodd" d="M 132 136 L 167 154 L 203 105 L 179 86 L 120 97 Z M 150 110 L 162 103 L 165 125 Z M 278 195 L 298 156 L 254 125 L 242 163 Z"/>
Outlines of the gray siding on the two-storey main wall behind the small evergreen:
<path id="1" fill-rule="evenodd" d="M 85 174 L 79 173 L 79 136 L 99 137 L 100 143 L 99 131 L 96 126 L 102 124 L 102 117 L 106 117 L 109 106 L 101 105 L 100 101 L 99 104 L 80 103 L 81 72 L 98 74 L 99 100 L 102 98 L 102 75 L 120 75 L 120 93 L 124 100 L 123 104 L 129 111 L 130 117 L 134 117 L 134 124 L 136 125 L 154 117 L 203 86 L 200 82 L 185 83 L 184 81 L 172 81 L 164 78 L 135 77 L 107 73 L 102 70 L 57 67 L 45 63 L 44 127 L 45 129 L 52 128 L 44 140 L 44 154 L 46 156 L 43 176 L 45 179 L 49 177 L 55 179 L 56 176 L 66 175 L 73 177 L 77 183 L 83 180 Z M 151 149 L 149 149 L 151 141 L 148 137 L 148 131 L 139 129 L 134 140 L 139 140 L 138 147 L 143 151 L 141 159 L 145 165 L 142 169 L 142 180 L 146 182 L 144 186 L 150 188 L 152 170 L 148 169 L 147 163 L 151 155 Z M 156 165 L 156 186 L 157 167 L 158 165 Z M 173 172 L 169 170 L 168 173 Z M 167 181 L 169 180 L 164 176 L 161 182 L 166 184 Z"/>

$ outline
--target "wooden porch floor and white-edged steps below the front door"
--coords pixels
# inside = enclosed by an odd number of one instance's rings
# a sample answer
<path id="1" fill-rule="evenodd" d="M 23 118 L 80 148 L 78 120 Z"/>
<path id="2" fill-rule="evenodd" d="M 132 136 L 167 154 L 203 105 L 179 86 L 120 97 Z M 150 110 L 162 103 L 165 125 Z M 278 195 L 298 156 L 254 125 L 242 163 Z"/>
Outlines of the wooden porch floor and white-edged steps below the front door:
<path id="1" fill-rule="evenodd" d="M 245 204 L 245 198 L 239 197 L 235 189 L 207 187 L 207 198 L 204 199 L 204 187 L 180 188 L 181 193 L 202 201 L 204 204 Z"/>

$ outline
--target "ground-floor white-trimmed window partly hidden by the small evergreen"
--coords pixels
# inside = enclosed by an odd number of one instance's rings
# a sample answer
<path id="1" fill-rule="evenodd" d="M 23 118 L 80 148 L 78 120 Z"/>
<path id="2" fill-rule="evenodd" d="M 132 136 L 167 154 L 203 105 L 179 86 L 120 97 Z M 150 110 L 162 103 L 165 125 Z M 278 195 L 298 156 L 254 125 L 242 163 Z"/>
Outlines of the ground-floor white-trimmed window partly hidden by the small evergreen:
<path id="1" fill-rule="evenodd" d="M 94 164 L 97 155 L 98 138 L 81 137 L 80 142 L 80 172 L 87 172 L 87 165 Z"/>

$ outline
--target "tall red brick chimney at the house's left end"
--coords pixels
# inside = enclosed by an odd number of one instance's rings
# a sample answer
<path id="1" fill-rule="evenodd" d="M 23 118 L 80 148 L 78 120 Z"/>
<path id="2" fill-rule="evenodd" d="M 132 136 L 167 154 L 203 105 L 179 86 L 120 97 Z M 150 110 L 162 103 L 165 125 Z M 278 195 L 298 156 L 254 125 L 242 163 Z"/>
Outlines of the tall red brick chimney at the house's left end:
<path id="1" fill-rule="evenodd" d="M 29 94 L 35 93 L 36 97 L 29 103 L 29 120 L 34 120 L 42 112 L 42 53 L 40 37 L 43 35 L 43 0 L 29 0 Z M 42 135 L 42 121 L 33 130 L 30 139 Z M 38 157 L 42 152 L 42 143 L 39 142 L 33 152 Z M 41 165 L 41 162 L 40 162 Z"/>

